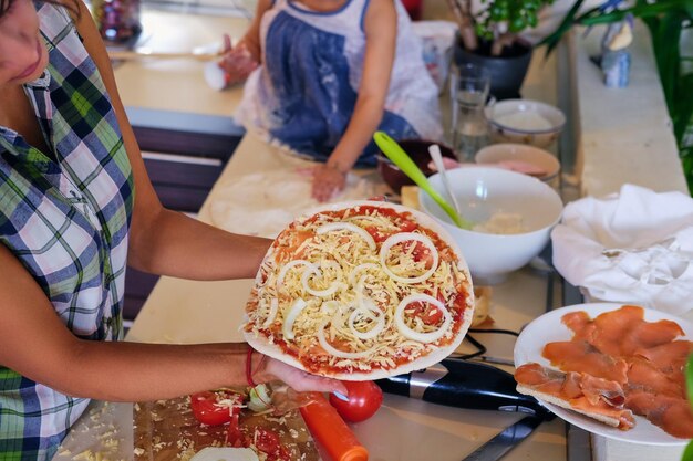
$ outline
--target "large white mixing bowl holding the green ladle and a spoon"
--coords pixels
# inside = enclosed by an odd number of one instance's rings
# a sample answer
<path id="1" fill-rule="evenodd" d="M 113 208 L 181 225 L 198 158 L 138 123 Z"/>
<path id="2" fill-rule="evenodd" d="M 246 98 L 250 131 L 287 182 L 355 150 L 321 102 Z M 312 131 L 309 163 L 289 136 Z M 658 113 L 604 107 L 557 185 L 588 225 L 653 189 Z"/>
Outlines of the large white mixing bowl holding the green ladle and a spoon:
<path id="1" fill-rule="evenodd" d="M 523 233 L 492 234 L 459 229 L 420 189 L 422 210 L 437 219 L 453 235 L 475 284 L 503 282 L 546 247 L 563 209 L 560 197 L 548 185 L 519 172 L 480 166 L 453 169 L 447 175 L 464 218 L 477 223 L 487 221 L 497 212 L 518 213 L 523 218 Z M 447 197 L 439 174 L 431 176 L 428 181 Z"/>

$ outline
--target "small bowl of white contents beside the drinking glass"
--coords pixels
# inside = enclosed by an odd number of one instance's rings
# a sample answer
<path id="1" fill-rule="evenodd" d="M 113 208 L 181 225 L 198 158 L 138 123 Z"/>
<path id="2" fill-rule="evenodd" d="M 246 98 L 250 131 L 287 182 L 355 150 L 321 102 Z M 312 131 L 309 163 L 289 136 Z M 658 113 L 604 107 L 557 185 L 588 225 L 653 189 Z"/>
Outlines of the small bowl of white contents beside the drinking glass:
<path id="1" fill-rule="evenodd" d="M 531 144 L 546 147 L 566 125 L 563 113 L 548 104 L 529 99 L 505 99 L 486 109 L 495 143 Z"/>

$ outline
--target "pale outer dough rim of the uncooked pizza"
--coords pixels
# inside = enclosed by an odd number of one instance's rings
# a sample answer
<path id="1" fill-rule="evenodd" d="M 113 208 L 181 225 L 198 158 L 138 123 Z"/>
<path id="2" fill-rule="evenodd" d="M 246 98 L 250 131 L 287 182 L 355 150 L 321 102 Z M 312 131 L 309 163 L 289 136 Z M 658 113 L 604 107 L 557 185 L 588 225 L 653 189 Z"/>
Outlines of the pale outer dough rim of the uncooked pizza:
<path id="1" fill-rule="evenodd" d="M 434 231 L 437 234 L 437 237 L 442 241 L 444 241 L 457 255 L 457 259 L 458 259 L 457 268 L 459 269 L 462 273 L 465 274 L 467 279 L 467 285 L 468 285 L 467 293 L 469 296 L 469 301 L 472 303 L 472 308 L 465 310 L 464 316 L 462 319 L 462 325 L 459 326 L 459 329 L 457 332 L 455 339 L 451 344 L 443 346 L 443 347 L 438 347 L 437 349 L 432 350 L 431 353 L 420 358 L 416 358 L 415 360 L 407 362 L 405 364 L 400 365 L 399 367 L 390 368 L 390 369 L 376 368 L 372 371 L 359 371 L 359 370 L 338 371 L 338 373 L 322 371 L 322 373 L 318 373 L 318 375 L 327 376 L 327 377 L 335 378 L 335 379 L 341 379 L 341 380 L 348 380 L 348 381 L 365 381 L 365 380 L 387 378 L 390 376 L 403 375 L 410 371 L 427 368 L 432 365 L 435 365 L 439 363 L 441 360 L 443 360 L 448 355 L 451 355 L 452 353 L 454 353 L 455 349 L 457 349 L 457 347 L 459 347 L 465 335 L 467 334 L 467 331 L 469 329 L 469 325 L 472 324 L 472 319 L 474 317 L 474 308 L 473 308 L 474 307 L 474 287 L 472 286 L 472 275 L 469 274 L 469 268 L 467 266 L 467 263 L 464 260 L 462 252 L 459 251 L 459 247 L 457 245 L 455 240 L 452 238 L 452 235 L 430 216 L 418 210 L 414 210 L 414 209 L 406 208 L 400 205 L 387 203 L 383 201 L 359 200 L 359 201 L 344 201 L 344 202 L 339 202 L 339 203 L 330 203 L 330 205 L 325 205 L 325 206 L 309 210 L 303 216 L 301 216 L 299 220 L 310 218 L 313 214 L 317 214 L 320 212 L 339 211 L 339 210 L 343 210 L 346 208 L 354 208 L 359 206 L 391 209 L 399 213 L 408 212 L 418 224 L 421 224 L 422 227 L 428 230 Z M 265 261 L 268 258 L 271 258 L 273 255 L 273 252 L 275 252 L 273 250 L 275 248 L 270 247 L 269 251 L 265 255 L 265 259 L 261 265 L 263 265 Z M 256 276 L 256 286 L 259 283 L 259 281 L 260 281 L 260 272 L 258 272 L 258 275 Z M 247 321 L 248 318 L 246 316 L 245 322 Z M 308 373 L 312 373 L 310 370 L 307 370 L 303 364 L 299 362 L 296 357 L 293 357 L 290 354 L 285 353 L 283 349 L 279 345 L 270 344 L 267 340 L 267 338 L 262 336 L 258 337 L 252 332 L 244 332 L 244 335 L 248 344 L 257 352 L 265 354 L 269 357 L 276 358 L 296 368 L 302 369 Z"/>

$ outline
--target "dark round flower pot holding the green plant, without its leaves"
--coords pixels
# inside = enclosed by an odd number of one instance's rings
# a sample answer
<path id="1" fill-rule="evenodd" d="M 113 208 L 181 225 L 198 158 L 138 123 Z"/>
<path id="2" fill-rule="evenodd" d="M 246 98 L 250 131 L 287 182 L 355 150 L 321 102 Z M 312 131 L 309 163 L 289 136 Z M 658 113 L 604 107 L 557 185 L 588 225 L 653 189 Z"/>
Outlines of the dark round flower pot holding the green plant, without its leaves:
<path id="1" fill-rule="evenodd" d="M 488 50 L 490 43 L 482 42 L 477 51 L 467 51 L 458 38 L 455 43 L 455 62 L 457 65 L 474 64 L 486 69 L 490 74 L 490 93 L 497 99 L 519 98 L 519 90 L 531 61 L 531 45 L 515 42 L 513 46 L 504 48 L 499 56 L 490 56 Z"/>

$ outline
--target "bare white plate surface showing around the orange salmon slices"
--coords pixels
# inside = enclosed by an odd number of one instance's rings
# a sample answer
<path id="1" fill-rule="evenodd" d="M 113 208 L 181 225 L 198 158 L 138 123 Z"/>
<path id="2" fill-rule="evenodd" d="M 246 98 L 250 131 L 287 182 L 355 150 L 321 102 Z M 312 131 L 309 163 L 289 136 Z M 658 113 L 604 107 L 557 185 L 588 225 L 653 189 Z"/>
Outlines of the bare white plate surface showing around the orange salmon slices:
<path id="1" fill-rule="evenodd" d="M 542 366 L 551 367 L 549 360 L 541 356 L 544 346 L 547 343 L 570 340 L 572 338 L 572 332 L 561 322 L 561 317 L 563 315 L 570 312 L 585 311 L 590 317 L 594 318 L 601 313 L 616 311 L 623 304 L 616 303 L 577 304 L 569 307 L 557 308 L 541 315 L 528 324 L 517 338 L 517 343 L 515 344 L 515 366 L 519 367 L 528 362 L 536 362 Z M 644 318 L 648 322 L 658 322 L 661 319 L 676 322 L 685 333 L 685 336 L 683 336 L 682 339 L 693 340 L 693 324 L 690 322 L 681 319 L 674 315 L 648 308 L 644 310 Z M 687 440 L 678 439 L 668 434 L 662 429 L 640 416 L 635 416 L 634 428 L 622 431 L 579 415 L 575 411 L 570 411 L 545 401 L 541 401 L 541 404 L 571 425 L 610 439 L 653 446 L 681 446 L 687 443 Z"/>

